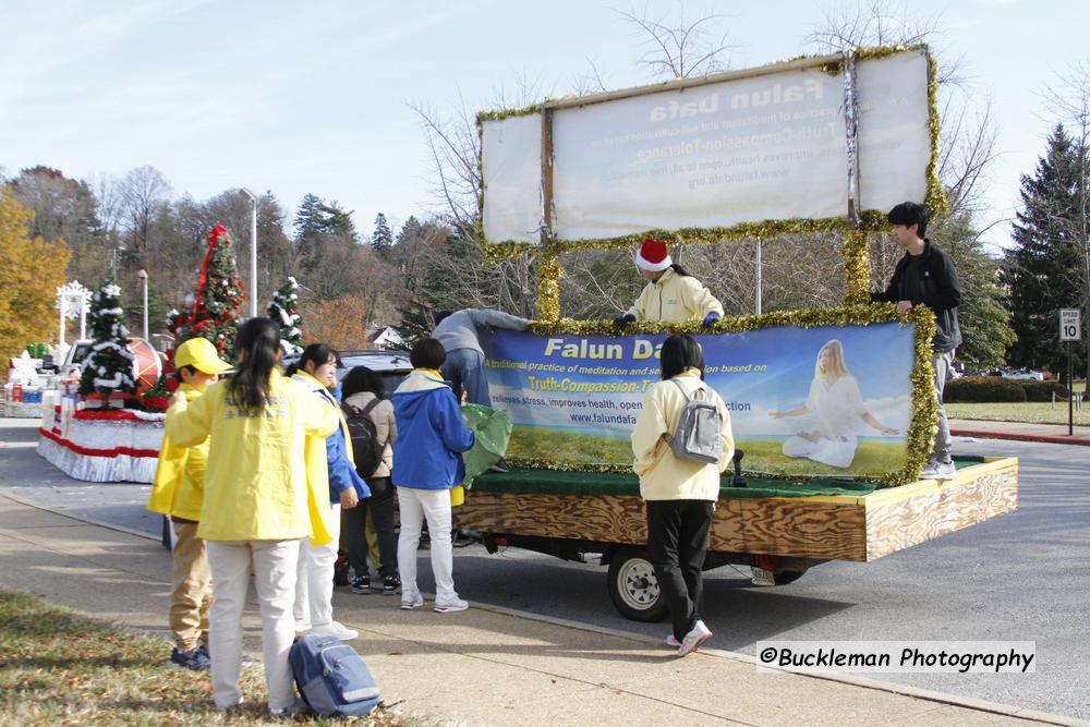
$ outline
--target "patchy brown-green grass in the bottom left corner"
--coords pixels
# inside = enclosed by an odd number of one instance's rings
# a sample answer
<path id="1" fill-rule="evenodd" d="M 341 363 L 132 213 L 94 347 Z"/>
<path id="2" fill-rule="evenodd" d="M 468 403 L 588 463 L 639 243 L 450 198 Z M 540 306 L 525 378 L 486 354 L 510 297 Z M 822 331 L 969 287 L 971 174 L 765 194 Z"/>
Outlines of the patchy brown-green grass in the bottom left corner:
<path id="1" fill-rule="evenodd" d="M 166 615 L 165 615 L 166 617 Z M 208 674 L 167 665 L 161 639 L 77 616 L 0 590 L 2 725 L 282 725 L 266 714 L 261 666 L 243 669 L 244 707 L 215 710 Z M 295 717 L 296 724 L 402 725 L 384 710 L 367 718 Z"/>

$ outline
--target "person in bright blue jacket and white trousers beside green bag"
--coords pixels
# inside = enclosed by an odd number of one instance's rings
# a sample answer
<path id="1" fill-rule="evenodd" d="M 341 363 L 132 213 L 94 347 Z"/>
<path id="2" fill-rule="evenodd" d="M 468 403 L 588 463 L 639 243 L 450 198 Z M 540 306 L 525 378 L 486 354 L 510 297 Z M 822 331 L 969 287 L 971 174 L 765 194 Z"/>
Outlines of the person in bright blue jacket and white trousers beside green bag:
<path id="1" fill-rule="evenodd" d="M 393 485 L 398 488 L 401 534 L 398 570 L 401 571 L 401 608 L 424 605 L 416 586 L 416 548 L 424 520 L 432 534 L 432 572 L 435 610 L 465 610 L 469 604 L 455 591 L 450 544 L 450 488 L 465 474 L 461 452 L 473 446 L 473 433 L 439 367 L 447 353 L 443 343 L 425 338 L 412 347 L 413 371 L 393 391 Z"/>

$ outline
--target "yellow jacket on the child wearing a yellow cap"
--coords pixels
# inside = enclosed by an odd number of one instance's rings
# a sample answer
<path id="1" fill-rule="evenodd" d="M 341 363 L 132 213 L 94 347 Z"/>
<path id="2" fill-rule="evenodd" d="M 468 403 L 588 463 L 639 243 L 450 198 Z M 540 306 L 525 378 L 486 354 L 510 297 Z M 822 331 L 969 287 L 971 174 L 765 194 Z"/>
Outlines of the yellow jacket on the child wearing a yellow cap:
<path id="1" fill-rule="evenodd" d="M 204 393 L 189 384 L 182 384 L 178 390 L 185 395 L 186 401 L 193 401 Z M 183 520 L 199 520 L 207 463 L 207 437 L 193 447 L 177 447 L 168 437 L 164 437 L 147 509 Z"/>

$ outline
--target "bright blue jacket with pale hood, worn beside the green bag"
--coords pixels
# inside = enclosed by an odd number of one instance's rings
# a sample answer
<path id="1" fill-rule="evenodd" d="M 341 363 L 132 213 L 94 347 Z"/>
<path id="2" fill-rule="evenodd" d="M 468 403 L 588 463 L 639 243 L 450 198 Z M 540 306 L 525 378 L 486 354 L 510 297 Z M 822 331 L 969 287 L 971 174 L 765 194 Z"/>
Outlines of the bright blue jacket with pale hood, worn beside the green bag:
<path id="1" fill-rule="evenodd" d="M 461 452 L 473 446 L 453 391 L 435 372 L 414 368 L 393 391 L 393 484 L 450 489 L 465 475 Z"/>

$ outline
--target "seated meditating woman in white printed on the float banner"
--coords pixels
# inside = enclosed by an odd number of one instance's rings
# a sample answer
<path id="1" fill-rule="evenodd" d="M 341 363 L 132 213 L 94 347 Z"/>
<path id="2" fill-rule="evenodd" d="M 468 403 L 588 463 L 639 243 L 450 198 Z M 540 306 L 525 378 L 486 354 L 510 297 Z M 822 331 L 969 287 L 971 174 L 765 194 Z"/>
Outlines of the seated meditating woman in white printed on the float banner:
<path id="1" fill-rule="evenodd" d="M 863 408 L 859 381 L 844 363 L 844 347 L 833 339 L 821 347 L 807 402 L 796 409 L 768 412 L 773 419 L 801 416 L 814 412 L 818 428 L 801 431 L 784 443 L 787 457 L 807 457 L 829 467 L 847 468 L 856 457 L 856 419 L 861 419 L 887 437 L 897 434 Z"/>

